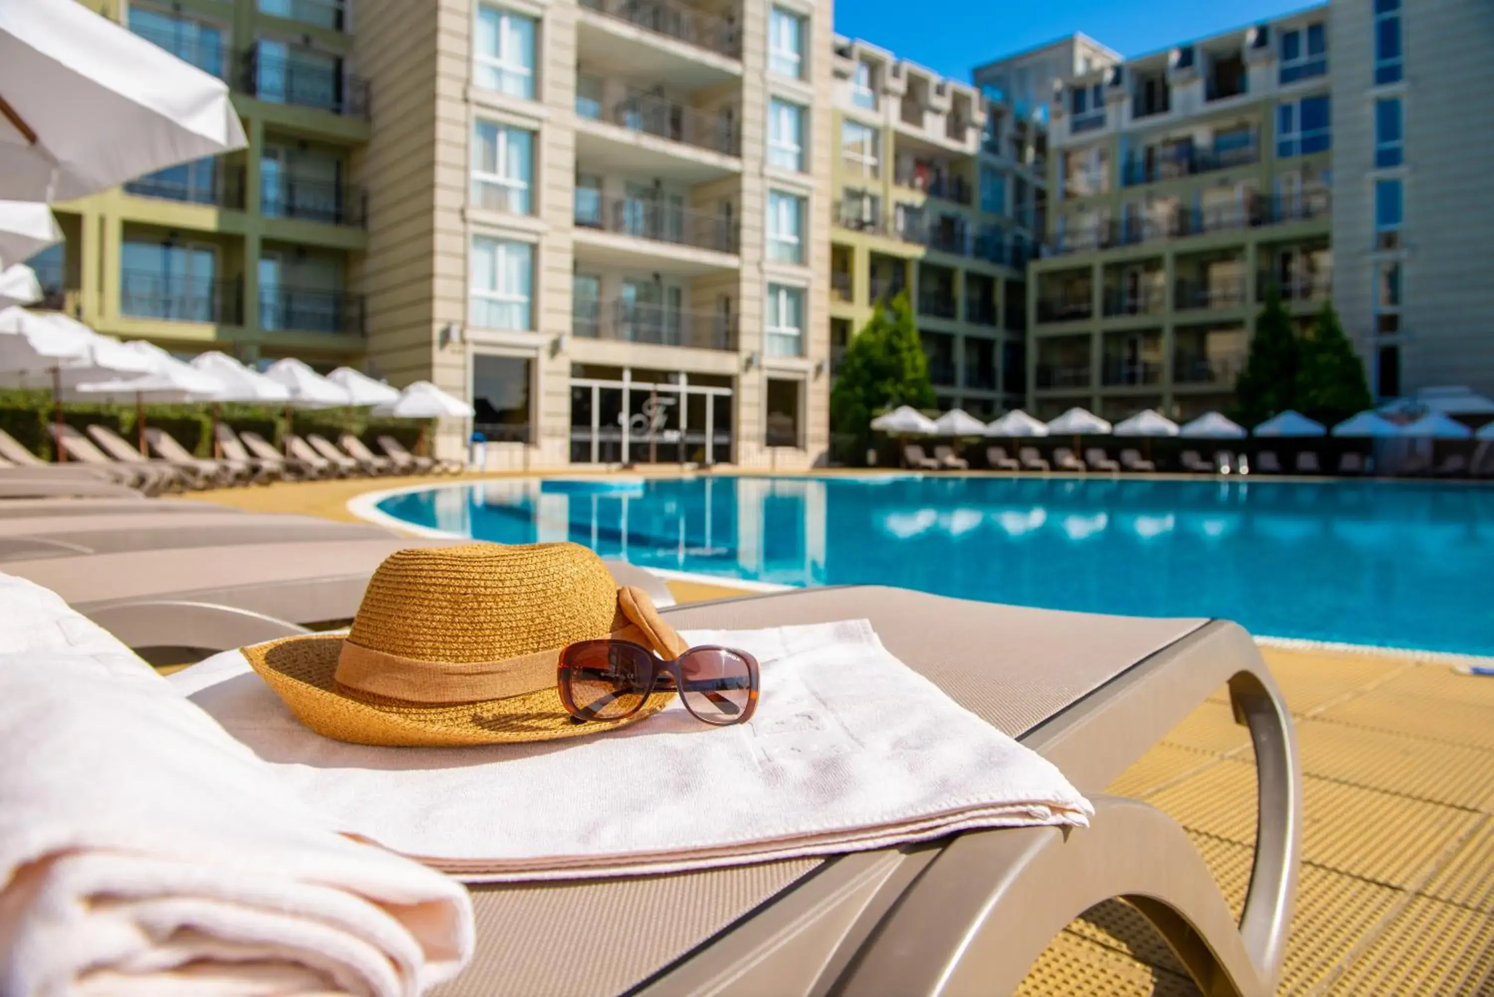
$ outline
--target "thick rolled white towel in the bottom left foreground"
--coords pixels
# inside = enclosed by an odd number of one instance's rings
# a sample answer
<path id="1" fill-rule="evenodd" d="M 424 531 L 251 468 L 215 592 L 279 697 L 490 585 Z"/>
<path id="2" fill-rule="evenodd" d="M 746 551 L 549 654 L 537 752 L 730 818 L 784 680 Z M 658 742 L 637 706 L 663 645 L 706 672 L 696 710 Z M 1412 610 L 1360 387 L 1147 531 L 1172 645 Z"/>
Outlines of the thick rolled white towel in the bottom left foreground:
<path id="1" fill-rule="evenodd" d="M 124 644 L 0 574 L 0 994 L 418 994 L 460 883 L 350 840 Z"/>

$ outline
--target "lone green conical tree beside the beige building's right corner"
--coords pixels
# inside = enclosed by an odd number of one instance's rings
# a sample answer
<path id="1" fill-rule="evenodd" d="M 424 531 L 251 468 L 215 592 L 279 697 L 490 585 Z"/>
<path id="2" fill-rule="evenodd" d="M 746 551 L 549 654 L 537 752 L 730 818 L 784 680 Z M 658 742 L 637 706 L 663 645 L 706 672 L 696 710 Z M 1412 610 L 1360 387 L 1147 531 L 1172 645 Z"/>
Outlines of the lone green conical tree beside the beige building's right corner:
<path id="1" fill-rule="evenodd" d="M 871 441 L 871 420 L 889 408 L 934 407 L 928 356 L 907 293 L 878 302 L 852 338 L 831 389 L 831 432 L 855 439 L 855 453 Z"/>

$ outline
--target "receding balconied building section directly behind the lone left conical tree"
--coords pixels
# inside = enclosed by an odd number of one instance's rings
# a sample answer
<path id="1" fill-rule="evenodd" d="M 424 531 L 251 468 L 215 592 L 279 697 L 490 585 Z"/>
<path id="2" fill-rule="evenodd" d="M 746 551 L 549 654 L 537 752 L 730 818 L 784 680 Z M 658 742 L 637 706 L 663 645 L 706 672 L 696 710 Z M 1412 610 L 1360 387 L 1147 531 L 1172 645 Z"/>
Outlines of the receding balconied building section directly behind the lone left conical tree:
<path id="1" fill-rule="evenodd" d="M 994 417 L 1025 384 L 1044 133 L 868 42 L 838 37 L 834 73 L 832 357 L 905 290 L 940 408 Z"/>

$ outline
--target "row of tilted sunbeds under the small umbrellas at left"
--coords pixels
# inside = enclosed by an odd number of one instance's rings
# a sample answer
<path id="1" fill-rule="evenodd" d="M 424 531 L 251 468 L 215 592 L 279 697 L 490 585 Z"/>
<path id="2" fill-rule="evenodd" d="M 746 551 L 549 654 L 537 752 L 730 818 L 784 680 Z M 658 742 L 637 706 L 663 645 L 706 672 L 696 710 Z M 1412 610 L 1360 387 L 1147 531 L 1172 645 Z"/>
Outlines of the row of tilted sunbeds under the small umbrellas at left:
<path id="1" fill-rule="evenodd" d="M 108 495 L 112 489 L 160 495 L 270 481 L 462 472 L 460 462 L 412 454 L 388 435 L 378 438 L 382 454 L 353 433 L 342 433 L 341 448 L 320 433 L 290 433 L 281 453 L 255 432 L 235 432 L 220 423 L 218 456 L 203 459 L 160 427 L 145 429 L 154 456 L 142 454 L 108 426 L 93 425 L 79 432 L 64 423 L 49 429 L 67 457 L 64 463 L 43 462 L 0 430 L 0 496 Z"/>

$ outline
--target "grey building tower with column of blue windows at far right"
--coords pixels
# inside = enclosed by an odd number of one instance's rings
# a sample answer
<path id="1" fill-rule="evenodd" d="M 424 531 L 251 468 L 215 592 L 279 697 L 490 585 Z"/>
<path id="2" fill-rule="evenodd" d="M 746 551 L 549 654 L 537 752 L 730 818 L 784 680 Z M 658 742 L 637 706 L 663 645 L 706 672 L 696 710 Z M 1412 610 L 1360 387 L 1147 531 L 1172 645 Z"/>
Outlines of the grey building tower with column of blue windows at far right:
<path id="1" fill-rule="evenodd" d="M 1487 0 L 1333 0 L 1334 303 L 1379 398 L 1494 396 Z"/>

